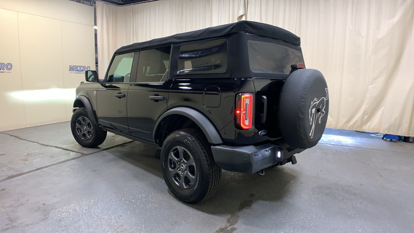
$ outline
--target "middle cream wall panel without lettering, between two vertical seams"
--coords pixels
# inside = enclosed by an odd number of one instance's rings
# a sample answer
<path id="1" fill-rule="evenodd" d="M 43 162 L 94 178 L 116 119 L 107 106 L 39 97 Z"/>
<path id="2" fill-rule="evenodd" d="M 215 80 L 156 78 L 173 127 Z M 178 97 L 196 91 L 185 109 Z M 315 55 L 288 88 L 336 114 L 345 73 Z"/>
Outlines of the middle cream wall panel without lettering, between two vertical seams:
<path id="1" fill-rule="evenodd" d="M 65 119 L 65 100 L 48 93 L 64 88 L 60 20 L 21 12 L 17 15 L 22 86 L 31 93 L 24 100 L 26 124 Z M 28 92 L 31 90 L 42 91 Z"/>

